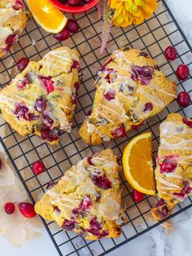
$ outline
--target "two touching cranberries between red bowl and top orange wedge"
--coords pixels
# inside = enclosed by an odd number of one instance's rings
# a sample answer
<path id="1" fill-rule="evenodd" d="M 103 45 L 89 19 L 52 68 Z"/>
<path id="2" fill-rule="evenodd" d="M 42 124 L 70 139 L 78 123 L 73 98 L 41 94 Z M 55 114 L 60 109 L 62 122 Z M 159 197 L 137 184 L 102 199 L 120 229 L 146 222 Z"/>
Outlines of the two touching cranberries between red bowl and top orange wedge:
<path id="1" fill-rule="evenodd" d="M 70 33 L 77 33 L 79 25 L 76 20 L 68 20 L 66 27 L 59 33 L 55 33 L 54 38 L 59 41 L 67 40 L 70 37 Z"/>

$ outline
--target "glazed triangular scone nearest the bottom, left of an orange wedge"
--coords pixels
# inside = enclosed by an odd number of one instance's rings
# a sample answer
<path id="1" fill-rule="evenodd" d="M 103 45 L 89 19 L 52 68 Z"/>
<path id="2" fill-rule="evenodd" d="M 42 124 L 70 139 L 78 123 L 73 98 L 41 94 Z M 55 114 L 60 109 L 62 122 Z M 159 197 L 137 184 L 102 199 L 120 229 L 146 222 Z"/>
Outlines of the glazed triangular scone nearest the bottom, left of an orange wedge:
<path id="1" fill-rule="evenodd" d="M 120 236 L 120 209 L 117 157 L 111 149 L 72 166 L 35 205 L 43 218 L 89 240 Z"/>

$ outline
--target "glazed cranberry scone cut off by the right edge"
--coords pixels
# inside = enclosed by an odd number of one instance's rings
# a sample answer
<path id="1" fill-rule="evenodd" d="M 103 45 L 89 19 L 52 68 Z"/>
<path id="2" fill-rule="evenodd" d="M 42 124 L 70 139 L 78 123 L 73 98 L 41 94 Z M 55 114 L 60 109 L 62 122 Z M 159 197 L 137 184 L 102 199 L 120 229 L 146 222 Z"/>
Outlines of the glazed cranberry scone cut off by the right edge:
<path id="1" fill-rule="evenodd" d="M 160 125 L 155 169 L 159 201 L 152 214 L 161 219 L 192 194 L 192 120 L 171 113 Z"/>

